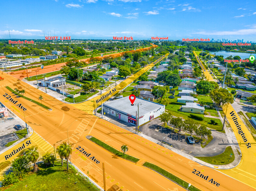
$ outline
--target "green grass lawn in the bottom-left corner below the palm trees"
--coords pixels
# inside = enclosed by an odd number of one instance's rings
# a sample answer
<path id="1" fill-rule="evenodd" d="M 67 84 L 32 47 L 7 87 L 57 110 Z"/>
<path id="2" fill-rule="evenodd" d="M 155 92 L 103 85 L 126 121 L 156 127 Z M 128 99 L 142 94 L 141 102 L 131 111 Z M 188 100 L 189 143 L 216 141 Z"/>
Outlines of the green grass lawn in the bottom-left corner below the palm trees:
<path id="1" fill-rule="evenodd" d="M 45 167 L 43 163 L 38 165 L 40 171 L 29 173 L 22 181 L 14 185 L 0 188 L 0 190 L 17 191 L 42 191 L 42 190 L 72 190 L 72 191 L 96 191 L 97 188 L 87 182 L 79 173 L 77 174 L 73 166 L 61 166 L 61 161 L 56 161 L 54 167 Z M 77 174 L 77 175 L 76 175 Z"/>

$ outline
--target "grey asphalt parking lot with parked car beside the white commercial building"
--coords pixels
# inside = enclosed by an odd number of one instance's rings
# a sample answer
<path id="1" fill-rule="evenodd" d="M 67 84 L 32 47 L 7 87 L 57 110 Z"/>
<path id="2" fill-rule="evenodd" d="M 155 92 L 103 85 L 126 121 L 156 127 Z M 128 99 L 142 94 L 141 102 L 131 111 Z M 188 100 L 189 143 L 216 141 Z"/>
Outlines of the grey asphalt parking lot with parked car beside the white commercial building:
<path id="1" fill-rule="evenodd" d="M 169 144 L 171 144 L 174 148 L 180 149 L 181 151 L 192 156 L 216 156 L 223 153 L 227 146 L 231 146 L 232 144 L 234 144 L 233 141 L 232 143 L 228 141 L 226 134 L 220 133 L 216 130 L 211 130 L 213 140 L 207 146 L 202 148 L 199 141 L 195 144 L 189 144 L 188 139 L 187 137 L 185 137 L 185 135 L 172 133 L 170 129 L 166 129 L 161 125 L 162 122 L 157 118 L 140 126 L 139 130 L 140 132 L 143 132 L 143 134 L 152 137 L 158 141 L 163 141 L 163 137 L 165 137 L 164 141 L 167 142 L 167 138 L 169 138 Z M 170 124 L 168 123 L 168 125 Z"/>

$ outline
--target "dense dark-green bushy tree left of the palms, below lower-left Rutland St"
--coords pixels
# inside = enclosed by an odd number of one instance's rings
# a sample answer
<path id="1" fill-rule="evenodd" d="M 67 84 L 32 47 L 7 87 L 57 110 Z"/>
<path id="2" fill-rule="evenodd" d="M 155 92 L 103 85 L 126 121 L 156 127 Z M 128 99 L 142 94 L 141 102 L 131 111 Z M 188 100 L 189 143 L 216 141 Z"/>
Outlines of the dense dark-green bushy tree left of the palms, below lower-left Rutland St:
<path id="1" fill-rule="evenodd" d="M 20 179 L 29 172 L 29 160 L 25 155 L 21 155 L 18 158 L 14 159 L 11 163 L 12 172 L 19 177 Z"/>

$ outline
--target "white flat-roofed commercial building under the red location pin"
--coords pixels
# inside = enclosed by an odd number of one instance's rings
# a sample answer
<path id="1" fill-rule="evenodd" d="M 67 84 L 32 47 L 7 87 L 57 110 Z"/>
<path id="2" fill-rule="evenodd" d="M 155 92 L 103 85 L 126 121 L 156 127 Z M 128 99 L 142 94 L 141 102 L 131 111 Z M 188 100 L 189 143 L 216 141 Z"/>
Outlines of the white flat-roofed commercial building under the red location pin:
<path id="1" fill-rule="evenodd" d="M 139 115 L 138 106 L 139 104 Z M 105 115 L 115 116 L 116 119 L 136 125 L 136 112 L 139 116 L 139 126 L 153 120 L 165 111 L 165 105 L 136 97 L 133 106 L 129 96 L 103 103 Z"/>

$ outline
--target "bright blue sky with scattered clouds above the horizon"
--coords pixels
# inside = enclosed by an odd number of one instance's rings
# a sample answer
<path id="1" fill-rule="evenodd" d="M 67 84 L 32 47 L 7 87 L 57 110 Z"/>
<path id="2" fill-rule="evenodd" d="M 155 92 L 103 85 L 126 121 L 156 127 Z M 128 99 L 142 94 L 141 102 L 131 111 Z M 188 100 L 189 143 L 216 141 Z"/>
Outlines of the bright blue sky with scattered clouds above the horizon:
<path id="1" fill-rule="evenodd" d="M 7 0 L 1 7 L 1 39 L 8 39 L 10 30 L 16 39 L 55 31 L 72 39 L 256 40 L 256 7 L 241 0 Z"/>

